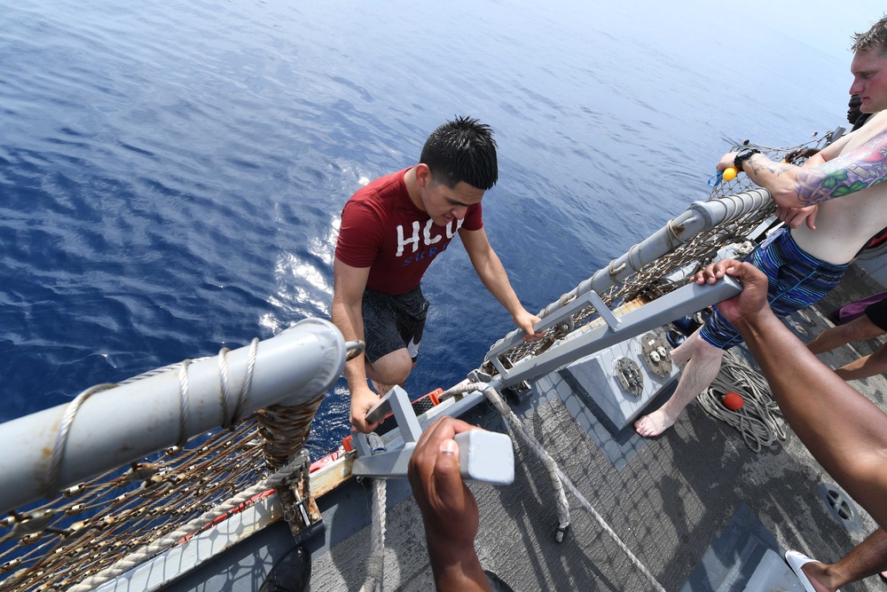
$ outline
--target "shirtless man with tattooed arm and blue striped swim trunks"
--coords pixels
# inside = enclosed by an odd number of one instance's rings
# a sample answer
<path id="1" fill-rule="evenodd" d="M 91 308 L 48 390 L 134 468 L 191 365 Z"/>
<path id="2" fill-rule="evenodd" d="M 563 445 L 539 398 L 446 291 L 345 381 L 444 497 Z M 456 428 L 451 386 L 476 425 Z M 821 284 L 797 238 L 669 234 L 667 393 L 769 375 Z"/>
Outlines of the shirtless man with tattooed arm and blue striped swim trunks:
<path id="1" fill-rule="evenodd" d="M 854 36 L 851 94 L 863 113 L 877 113 L 867 124 L 813 155 L 803 167 L 773 162 L 742 150 L 726 154 L 718 170 L 737 166 L 773 194 L 781 220 L 790 226 L 774 233 L 749 256 L 770 278 L 770 304 L 785 316 L 813 304 L 834 287 L 856 253 L 887 226 L 887 17 Z M 834 199 L 840 198 L 840 199 Z M 687 364 L 678 387 L 663 407 L 644 415 L 634 429 L 658 436 L 714 381 L 724 351 L 742 337 L 717 310 L 710 320 L 671 352 Z"/>

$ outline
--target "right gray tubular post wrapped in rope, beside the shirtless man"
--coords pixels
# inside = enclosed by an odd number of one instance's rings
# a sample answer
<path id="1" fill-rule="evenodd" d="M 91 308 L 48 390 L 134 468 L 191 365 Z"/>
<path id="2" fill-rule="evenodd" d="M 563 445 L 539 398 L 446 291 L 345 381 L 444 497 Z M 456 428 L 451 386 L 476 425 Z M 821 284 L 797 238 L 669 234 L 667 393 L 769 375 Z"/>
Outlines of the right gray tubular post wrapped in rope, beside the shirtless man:
<path id="1" fill-rule="evenodd" d="M 544 330 L 556 324 L 556 320 L 546 322 L 546 318 L 555 318 L 555 312 L 560 311 L 561 308 L 580 296 L 591 291 L 603 294 L 604 291 L 640 271 L 644 265 L 652 263 L 679 245 L 692 240 L 697 234 L 710 230 L 716 225 L 745 216 L 765 206 L 771 199 L 770 192 L 766 189 L 754 189 L 749 192 L 727 195 L 716 200 L 694 201 L 683 214 L 669 221 L 645 241 L 634 245 L 622 257 L 617 257 L 607 267 L 595 272 L 591 278 L 581 282 L 573 291 L 564 294 L 556 302 L 548 304 L 538 313 L 542 321 L 537 324 L 536 329 Z M 493 343 L 487 353 L 487 359 L 520 343 L 522 337 L 523 331 L 514 329 L 498 342 Z"/>

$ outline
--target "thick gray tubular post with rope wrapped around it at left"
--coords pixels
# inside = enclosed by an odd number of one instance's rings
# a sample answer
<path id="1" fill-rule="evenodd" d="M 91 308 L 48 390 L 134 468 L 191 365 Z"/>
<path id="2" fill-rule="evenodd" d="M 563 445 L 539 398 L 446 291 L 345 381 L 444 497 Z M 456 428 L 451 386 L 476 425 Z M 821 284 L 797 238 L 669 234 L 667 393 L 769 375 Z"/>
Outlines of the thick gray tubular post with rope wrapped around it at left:
<path id="1" fill-rule="evenodd" d="M 332 323 L 317 319 L 302 320 L 258 343 L 243 414 L 277 403 L 299 405 L 316 399 L 341 375 L 346 347 Z M 232 391 L 247 379 L 250 349 L 226 354 Z M 180 382 L 183 371 L 186 393 Z M 15 451 L 0 457 L 0 474 L 6 476 L 0 479 L 0 512 L 54 493 L 49 491 L 53 485 L 75 485 L 175 446 L 182 438 L 181 425 L 187 426 L 186 437 L 192 438 L 228 419 L 216 357 L 92 392 L 79 402 L 73 419 L 66 420 L 68 407 L 52 407 L 0 425 L 0 449 Z M 66 422 L 64 455 L 53 477 L 51 451 Z"/>

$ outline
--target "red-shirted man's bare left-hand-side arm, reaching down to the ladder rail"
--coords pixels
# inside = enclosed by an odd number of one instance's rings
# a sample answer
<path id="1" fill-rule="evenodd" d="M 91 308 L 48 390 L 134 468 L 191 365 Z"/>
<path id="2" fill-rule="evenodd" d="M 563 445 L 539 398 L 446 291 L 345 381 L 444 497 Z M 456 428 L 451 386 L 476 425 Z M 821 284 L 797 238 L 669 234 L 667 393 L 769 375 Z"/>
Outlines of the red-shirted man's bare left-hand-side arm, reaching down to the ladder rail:
<path id="1" fill-rule="evenodd" d="M 333 310 L 331 317 L 345 341 L 365 341 L 362 303 L 369 267 L 352 267 L 338 257 L 333 262 Z M 366 384 L 364 355 L 345 364 L 345 378 L 351 392 L 350 422 L 357 430 L 369 433 L 375 423 L 366 422 L 366 412 L 379 401 L 379 396 Z"/>

